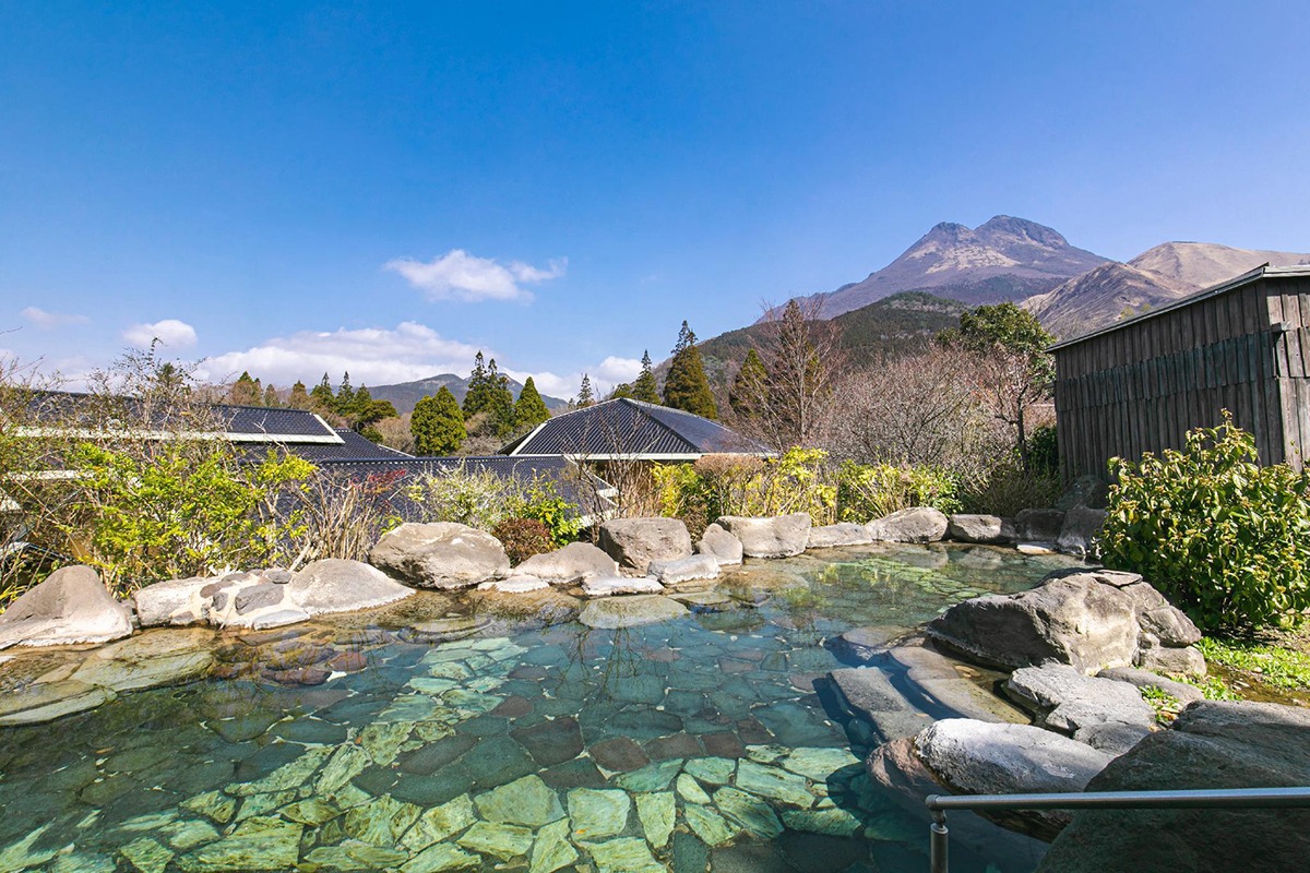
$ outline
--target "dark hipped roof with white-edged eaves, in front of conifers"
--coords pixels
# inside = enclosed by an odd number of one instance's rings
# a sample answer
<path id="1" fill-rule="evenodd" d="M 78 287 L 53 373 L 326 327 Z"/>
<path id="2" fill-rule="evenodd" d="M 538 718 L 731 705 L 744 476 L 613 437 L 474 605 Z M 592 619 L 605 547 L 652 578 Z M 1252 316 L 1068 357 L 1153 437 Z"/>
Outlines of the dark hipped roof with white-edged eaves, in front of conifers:
<path id="1" fill-rule="evenodd" d="M 500 449 L 507 455 L 685 458 L 711 453 L 769 454 L 735 431 L 681 410 L 627 398 L 557 415 Z"/>

